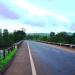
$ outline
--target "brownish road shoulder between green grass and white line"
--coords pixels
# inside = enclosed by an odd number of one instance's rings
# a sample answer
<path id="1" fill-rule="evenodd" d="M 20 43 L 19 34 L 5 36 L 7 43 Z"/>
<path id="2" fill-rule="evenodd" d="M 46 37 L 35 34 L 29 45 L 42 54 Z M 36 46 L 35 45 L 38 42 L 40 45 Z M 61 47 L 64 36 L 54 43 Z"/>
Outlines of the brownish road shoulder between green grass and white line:
<path id="1" fill-rule="evenodd" d="M 27 43 L 23 42 L 4 75 L 32 75 Z"/>

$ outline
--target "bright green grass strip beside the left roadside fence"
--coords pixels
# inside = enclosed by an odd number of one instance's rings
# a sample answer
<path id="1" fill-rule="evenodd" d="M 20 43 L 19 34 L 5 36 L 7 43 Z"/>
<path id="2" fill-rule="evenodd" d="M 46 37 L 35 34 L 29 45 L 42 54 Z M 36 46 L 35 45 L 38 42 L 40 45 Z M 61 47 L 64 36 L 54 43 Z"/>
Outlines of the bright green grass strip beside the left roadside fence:
<path id="1" fill-rule="evenodd" d="M 5 66 L 8 64 L 8 62 L 10 62 L 10 60 L 13 58 L 13 56 L 16 53 L 16 48 L 13 49 L 12 52 L 10 52 L 5 59 L 0 58 L 0 71 L 2 71 Z"/>

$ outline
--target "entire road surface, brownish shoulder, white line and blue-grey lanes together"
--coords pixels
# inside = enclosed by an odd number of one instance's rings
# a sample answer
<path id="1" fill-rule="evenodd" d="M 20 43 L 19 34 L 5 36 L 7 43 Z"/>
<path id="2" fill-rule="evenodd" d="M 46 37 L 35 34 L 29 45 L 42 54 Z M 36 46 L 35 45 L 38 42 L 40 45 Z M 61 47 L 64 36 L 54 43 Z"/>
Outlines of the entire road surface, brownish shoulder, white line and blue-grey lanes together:
<path id="1" fill-rule="evenodd" d="M 75 75 L 75 51 L 24 41 L 4 75 Z"/>

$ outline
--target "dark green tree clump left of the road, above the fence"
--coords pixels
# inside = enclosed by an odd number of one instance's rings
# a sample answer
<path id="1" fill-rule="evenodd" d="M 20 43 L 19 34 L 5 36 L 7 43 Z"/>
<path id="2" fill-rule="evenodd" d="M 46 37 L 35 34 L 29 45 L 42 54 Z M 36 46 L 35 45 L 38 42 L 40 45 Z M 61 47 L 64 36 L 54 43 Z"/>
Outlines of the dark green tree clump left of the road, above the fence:
<path id="1" fill-rule="evenodd" d="M 23 30 L 10 33 L 7 29 L 0 29 L 0 48 L 6 48 L 12 44 L 25 39 L 26 33 Z"/>

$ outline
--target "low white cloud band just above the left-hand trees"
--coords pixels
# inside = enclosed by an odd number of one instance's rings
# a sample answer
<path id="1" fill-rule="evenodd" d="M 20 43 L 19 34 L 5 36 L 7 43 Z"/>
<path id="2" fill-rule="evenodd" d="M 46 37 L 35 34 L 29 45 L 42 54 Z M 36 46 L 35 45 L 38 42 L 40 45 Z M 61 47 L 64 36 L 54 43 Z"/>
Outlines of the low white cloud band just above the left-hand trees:
<path id="1" fill-rule="evenodd" d="M 26 33 L 44 32 L 43 28 L 41 27 L 38 27 L 38 26 L 35 27 L 30 24 L 20 24 L 12 20 L 0 20 L 0 28 L 8 29 L 10 32 L 13 32 L 14 30 L 21 30 L 22 28 L 26 30 Z"/>

